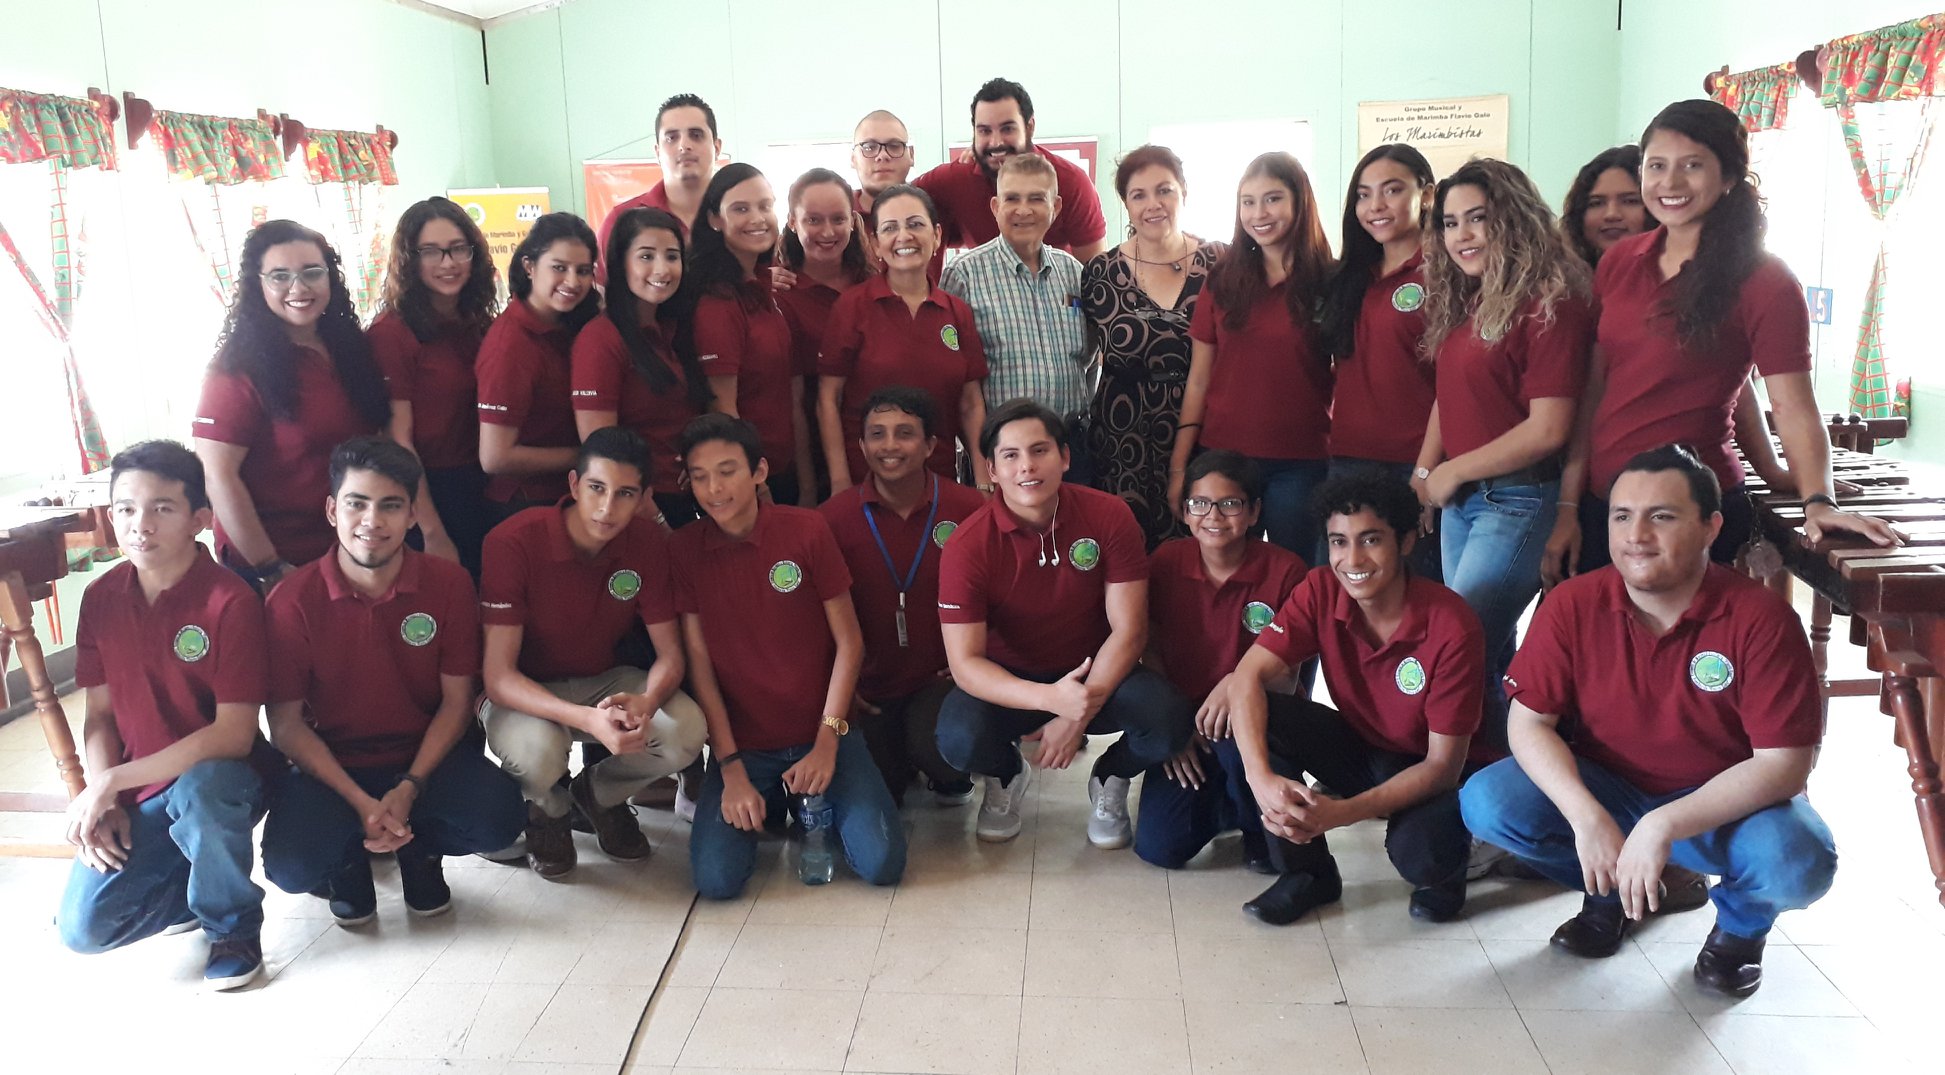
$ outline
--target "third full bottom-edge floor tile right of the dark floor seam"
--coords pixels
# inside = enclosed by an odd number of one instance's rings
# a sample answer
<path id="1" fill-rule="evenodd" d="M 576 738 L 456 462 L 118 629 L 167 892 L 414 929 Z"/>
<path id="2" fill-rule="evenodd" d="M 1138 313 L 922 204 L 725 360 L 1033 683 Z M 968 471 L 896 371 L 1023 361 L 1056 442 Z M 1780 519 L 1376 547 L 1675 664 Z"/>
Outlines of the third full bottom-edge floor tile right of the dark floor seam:
<path id="1" fill-rule="evenodd" d="M 1188 1028 L 1183 1001 L 1027 997 L 1019 1011 L 1017 1075 L 1185 1075 Z"/>

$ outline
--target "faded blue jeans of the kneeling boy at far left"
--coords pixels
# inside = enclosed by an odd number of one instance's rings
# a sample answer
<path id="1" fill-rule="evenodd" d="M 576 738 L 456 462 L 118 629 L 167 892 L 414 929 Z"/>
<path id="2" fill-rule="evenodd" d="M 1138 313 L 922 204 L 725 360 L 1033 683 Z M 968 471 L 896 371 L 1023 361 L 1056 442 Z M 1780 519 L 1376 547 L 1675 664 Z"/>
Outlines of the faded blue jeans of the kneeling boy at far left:
<path id="1" fill-rule="evenodd" d="M 263 781 L 241 758 L 196 762 L 128 807 L 128 861 L 95 873 L 74 859 L 60 896 L 60 943 L 93 954 L 194 918 L 212 941 L 263 931 L 263 888 L 249 879 Z"/>

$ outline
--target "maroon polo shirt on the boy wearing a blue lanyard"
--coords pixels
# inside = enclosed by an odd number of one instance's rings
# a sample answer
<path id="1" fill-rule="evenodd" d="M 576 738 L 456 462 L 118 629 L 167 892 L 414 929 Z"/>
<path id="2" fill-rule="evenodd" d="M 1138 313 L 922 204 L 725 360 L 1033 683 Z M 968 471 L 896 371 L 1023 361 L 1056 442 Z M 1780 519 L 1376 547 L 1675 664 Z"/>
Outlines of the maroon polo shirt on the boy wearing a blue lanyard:
<path id="1" fill-rule="evenodd" d="M 864 630 L 858 694 L 871 702 L 912 694 L 945 671 L 945 640 L 939 634 L 939 556 L 959 523 L 984 507 L 986 498 L 937 474 L 932 474 L 930 488 L 937 490 L 939 498 L 936 517 L 928 492 L 918 507 L 901 519 L 877 498 L 877 482 L 869 476 L 817 507 L 850 568 L 852 601 L 858 605 L 858 626 Z M 867 511 L 877 521 L 883 550 L 871 537 Z M 887 556 L 891 564 L 885 562 Z M 918 573 L 912 589 L 904 591 L 906 645 L 899 645 L 899 587 L 912 572 L 914 558 Z"/>

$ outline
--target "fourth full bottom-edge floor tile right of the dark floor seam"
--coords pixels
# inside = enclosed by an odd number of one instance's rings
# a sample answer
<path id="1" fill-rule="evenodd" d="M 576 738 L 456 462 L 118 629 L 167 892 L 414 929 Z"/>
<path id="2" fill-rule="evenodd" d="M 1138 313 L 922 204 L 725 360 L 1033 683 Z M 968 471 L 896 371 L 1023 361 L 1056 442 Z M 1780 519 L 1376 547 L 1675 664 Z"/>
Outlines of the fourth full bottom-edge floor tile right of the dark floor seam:
<path id="1" fill-rule="evenodd" d="M 1344 1005 L 1262 1003 L 1190 995 L 1188 1054 L 1196 1075 L 1362 1073 L 1363 1046 Z"/>

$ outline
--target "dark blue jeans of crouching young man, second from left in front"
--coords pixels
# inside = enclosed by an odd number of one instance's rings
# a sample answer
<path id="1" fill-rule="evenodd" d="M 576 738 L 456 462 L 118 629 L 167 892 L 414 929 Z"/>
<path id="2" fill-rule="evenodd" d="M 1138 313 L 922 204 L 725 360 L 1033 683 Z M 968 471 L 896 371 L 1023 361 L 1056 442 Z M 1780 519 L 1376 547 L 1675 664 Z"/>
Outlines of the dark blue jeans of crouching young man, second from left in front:
<path id="1" fill-rule="evenodd" d="M 373 799 L 399 785 L 397 766 L 344 770 Z M 401 855 L 498 851 L 527 828 L 519 783 L 463 739 L 440 762 L 412 803 L 412 842 Z M 366 855 L 364 822 L 342 795 L 317 778 L 284 770 L 263 826 L 263 875 L 286 892 L 309 892 Z"/>

